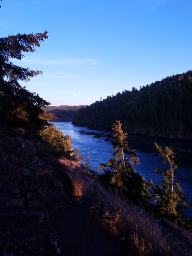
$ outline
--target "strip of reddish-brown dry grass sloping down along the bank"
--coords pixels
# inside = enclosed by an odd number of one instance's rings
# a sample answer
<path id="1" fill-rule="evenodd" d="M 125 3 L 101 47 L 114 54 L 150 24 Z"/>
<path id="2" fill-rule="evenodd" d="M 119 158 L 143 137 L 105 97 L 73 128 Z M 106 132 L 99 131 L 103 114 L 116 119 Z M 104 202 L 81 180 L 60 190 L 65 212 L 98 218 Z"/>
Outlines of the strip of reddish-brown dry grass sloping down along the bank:
<path id="1" fill-rule="evenodd" d="M 111 230 L 121 230 L 131 239 L 139 255 L 192 256 L 192 236 L 177 227 L 163 227 L 144 210 L 123 201 L 118 193 L 105 189 L 94 173 L 74 162 L 61 160 L 73 183 L 73 195 L 86 195 L 95 201 L 106 217 Z M 180 234 L 182 233 L 182 236 Z"/>

